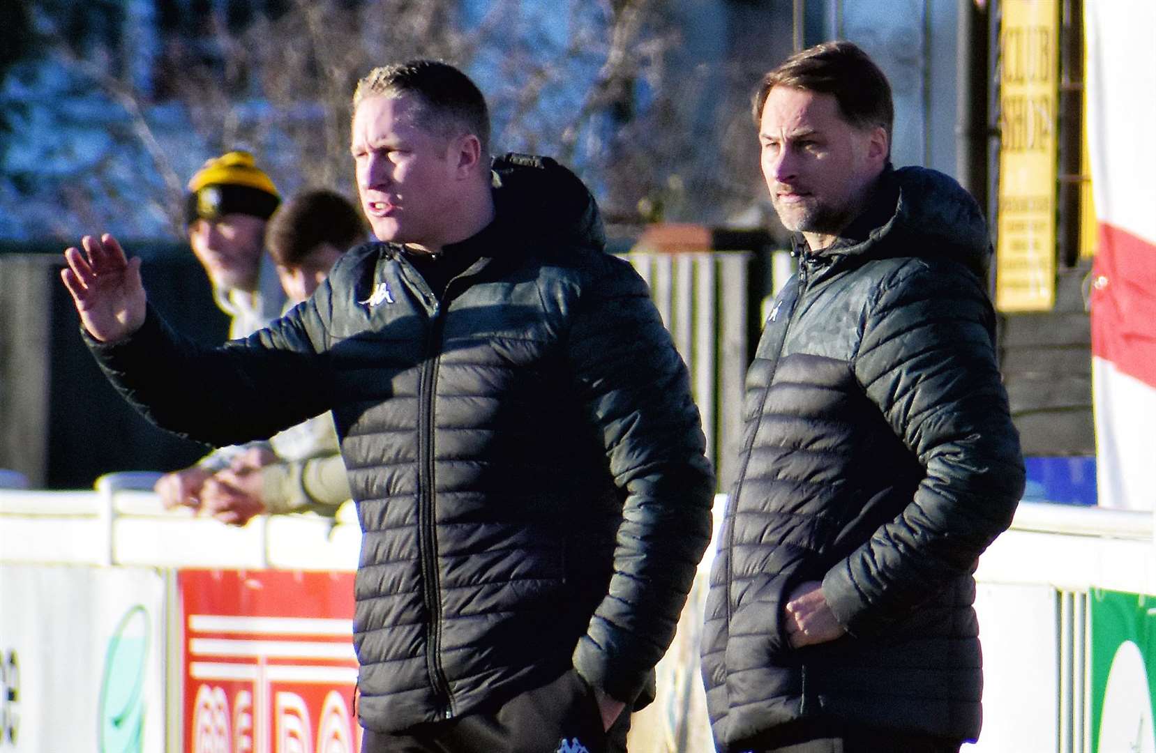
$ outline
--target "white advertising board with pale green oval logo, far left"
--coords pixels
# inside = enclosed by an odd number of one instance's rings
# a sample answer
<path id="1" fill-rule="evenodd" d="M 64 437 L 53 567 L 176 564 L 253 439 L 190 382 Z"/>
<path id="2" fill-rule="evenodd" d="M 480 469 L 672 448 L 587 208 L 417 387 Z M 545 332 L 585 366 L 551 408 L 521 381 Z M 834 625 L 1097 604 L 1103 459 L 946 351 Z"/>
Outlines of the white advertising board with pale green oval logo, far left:
<path id="1" fill-rule="evenodd" d="M 164 581 L 0 565 L 0 753 L 164 751 Z"/>

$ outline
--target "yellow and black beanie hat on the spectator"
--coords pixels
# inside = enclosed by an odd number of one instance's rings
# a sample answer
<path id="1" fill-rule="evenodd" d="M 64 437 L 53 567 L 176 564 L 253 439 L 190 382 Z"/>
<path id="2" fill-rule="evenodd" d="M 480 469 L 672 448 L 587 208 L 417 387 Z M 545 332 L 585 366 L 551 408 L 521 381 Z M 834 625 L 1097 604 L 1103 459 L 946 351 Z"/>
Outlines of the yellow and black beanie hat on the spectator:
<path id="1" fill-rule="evenodd" d="M 253 215 L 268 219 L 281 194 L 247 151 L 229 151 L 207 161 L 188 181 L 185 222 L 222 215 Z"/>

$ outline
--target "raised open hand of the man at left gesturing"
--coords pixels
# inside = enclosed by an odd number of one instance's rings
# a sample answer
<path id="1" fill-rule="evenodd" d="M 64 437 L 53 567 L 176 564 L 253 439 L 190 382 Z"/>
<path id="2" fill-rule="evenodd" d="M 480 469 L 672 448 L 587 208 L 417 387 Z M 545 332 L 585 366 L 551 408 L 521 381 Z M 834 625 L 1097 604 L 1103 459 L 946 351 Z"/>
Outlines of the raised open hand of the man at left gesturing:
<path id="1" fill-rule="evenodd" d="M 127 259 L 108 233 L 84 236 L 81 246 L 83 253 L 75 246 L 65 249 L 68 266 L 60 271 L 81 323 L 101 342 L 127 337 L 144 322 L 140 258 Z"/>

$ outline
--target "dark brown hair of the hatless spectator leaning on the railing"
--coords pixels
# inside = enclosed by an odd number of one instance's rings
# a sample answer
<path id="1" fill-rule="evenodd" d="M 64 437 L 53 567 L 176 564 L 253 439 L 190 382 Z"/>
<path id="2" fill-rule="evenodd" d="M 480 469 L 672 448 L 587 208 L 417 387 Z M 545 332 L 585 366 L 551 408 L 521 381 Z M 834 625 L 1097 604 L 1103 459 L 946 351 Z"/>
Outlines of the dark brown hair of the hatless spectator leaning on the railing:
<path id="1" fill-rule="evenodd" d="M 265 229 L 269 255 L 282 267 L 296 267 L 321 244 L 339 251 L 365 240 L 361 213 L 339 193 L 326 189 L 297 194 L 273 213 Z"/>

